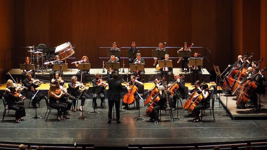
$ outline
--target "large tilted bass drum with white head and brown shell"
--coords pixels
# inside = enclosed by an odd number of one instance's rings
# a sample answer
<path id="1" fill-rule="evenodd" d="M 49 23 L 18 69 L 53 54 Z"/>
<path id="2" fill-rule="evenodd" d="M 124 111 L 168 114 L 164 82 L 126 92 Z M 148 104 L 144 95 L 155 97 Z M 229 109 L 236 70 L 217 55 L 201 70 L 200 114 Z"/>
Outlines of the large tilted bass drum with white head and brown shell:
<path id="1" fill-rule="evenodd" d="M 67 42 L 57 46 L 55 53 L 58 53 L 60 60 L 64 60 L 72 56 L 75 53 L 75 51 L 73 50 L 71 43 Z"/>

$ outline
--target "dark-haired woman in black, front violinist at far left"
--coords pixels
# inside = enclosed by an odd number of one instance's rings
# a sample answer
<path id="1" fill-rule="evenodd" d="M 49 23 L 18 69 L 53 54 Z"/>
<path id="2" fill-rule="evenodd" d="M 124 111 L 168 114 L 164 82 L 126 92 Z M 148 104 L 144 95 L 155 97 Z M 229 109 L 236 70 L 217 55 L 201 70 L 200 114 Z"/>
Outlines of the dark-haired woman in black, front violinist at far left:
<path id="1" fill-rule="evenodd" d="M 19 96 L 15 96 L 15 92 L 16 92 L 16 88 L 15 86 L 10 86 L 8 88 L 10 90 L 9 93 L 7 93 L 7 105 L 8 105 L 8 109 L 11 110 L 15 110 L 15 122 L 19 123 L 19 121 L 22 121 L 24 119 L 22 119 L 22 117 L 26 116 L 25 113 L 25 107 L 23 105 L 19 105 L 16 102 L 19 101 L 19 99 L 21 99 Z"/>

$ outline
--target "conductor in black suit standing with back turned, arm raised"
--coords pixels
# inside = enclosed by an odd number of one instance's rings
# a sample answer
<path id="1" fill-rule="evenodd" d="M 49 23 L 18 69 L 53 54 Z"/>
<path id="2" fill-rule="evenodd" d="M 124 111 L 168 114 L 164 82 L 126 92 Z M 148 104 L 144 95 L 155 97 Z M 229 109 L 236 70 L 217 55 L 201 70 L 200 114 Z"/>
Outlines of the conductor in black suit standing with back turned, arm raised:
<path id="1" fill-rule="evenodd" d="M 109 89 L 108 89 L 108 105 L 109 105 L 109 111 L 108 111 L 108 122 L 111 123 L 112 119 L 112 109 L 113 105 L 115 104 L 115 109 L 116 109 L 116 121 L 117 123 L 120 123 L 120 90 L 126 90 L 127 86 L 121 85 L 120 81 L 117 81 L 118 74 L 113 73 L 112 78 L 111 72 L 112 69 L 109 68 L 110 73 L 108 74 L 108 79 L 107 83 L 109 84 Z M 130 88 L 127 88 L 130 89 Z"/>

